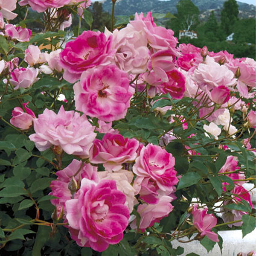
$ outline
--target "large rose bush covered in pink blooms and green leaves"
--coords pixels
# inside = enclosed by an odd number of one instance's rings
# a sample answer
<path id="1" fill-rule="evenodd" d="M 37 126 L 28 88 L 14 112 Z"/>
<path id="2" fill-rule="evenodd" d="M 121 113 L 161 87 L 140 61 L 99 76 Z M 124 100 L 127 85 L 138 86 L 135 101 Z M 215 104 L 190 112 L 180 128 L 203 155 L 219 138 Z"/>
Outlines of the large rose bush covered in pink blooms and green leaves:
<path id="1" fill-rule="evenodd" d="M 3 255 L 176 256 L 184 236 L 211 250 L 255 228 L 253 59 L 179 44 L 151 12 L 70 37 L 90 1 L 19 1 L 43 12 L 35 35 L 16 2 L 0 0 Z"/>

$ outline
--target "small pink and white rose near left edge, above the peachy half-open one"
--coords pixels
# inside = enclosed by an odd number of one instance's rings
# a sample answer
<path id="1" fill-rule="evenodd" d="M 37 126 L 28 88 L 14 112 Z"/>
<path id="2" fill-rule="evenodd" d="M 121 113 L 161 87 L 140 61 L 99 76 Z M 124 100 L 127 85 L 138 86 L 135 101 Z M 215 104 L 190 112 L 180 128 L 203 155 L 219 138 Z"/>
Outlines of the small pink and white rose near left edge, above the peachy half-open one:
<path id="1" fill-rule="evenodd" d="M 5 25 L 5 36 L 12 38 L 12 40 L 17 40 L 19 42 L 28 42 L 31 36 L 31 30 L 22 28 L 20 26 L 16 27 L 12 24 Z"/>

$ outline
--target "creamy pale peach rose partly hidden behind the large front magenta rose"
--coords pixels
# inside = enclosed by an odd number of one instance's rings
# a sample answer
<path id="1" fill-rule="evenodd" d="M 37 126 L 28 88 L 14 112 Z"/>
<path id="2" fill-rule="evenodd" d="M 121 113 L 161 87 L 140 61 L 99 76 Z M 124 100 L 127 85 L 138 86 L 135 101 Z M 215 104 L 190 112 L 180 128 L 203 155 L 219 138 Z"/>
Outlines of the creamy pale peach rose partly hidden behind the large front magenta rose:
<path id="1" fill-rule="evenodd" d="M 128 207 L 129 212 L 131 213 L 134 209 L 134 204 L 138 203 L 134 196 L 135 189 L 131 186 L 134 177 L 133 173 L 122 169 L 119 172 L 98 172 L 98 175 L 101 180 L 116 181 L 116 188 L 125 194 L 125 206 Z"/>

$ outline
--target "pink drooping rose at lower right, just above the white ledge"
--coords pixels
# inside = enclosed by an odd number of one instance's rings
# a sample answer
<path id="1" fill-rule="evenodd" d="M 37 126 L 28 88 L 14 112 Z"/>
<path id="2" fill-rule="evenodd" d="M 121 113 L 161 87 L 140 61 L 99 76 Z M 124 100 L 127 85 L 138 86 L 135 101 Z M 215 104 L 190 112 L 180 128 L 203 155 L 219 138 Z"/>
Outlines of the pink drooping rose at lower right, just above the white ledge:
<path id="1" fill-rule="evenodd" d="M 207 214 L 207 208 L 197 209 L 195 204 L 193 208 L 193 225 L 201 233 L 201 236 L 207 236 L 210 240 L 218 242 L 218 235 L 210 231 L 217 224 L 217 219 L 213 214 Z"/>

